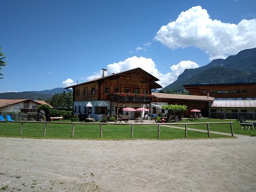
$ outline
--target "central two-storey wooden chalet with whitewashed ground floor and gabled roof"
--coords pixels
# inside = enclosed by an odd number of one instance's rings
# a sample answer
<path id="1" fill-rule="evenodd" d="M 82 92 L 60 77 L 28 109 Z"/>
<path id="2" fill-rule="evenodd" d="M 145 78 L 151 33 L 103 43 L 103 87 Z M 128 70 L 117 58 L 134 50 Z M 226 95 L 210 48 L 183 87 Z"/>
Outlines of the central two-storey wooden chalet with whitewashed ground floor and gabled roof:
<path id="1" fill-rule="evenodd" d="M 66 89 L 73 89 L 75 114 L 87 114 L 86 105 L 90 101 L 93 105 L 91 117 L 99 120 L 106 115 L 106 111 L 110 111 L 110 115 L 116 115 L 124 106 L 148 106 L 152 101 L 152 90 L 162 88 L 156 83 L 158 80 L 144 70 L 136 68 L 102 76 Z"/>

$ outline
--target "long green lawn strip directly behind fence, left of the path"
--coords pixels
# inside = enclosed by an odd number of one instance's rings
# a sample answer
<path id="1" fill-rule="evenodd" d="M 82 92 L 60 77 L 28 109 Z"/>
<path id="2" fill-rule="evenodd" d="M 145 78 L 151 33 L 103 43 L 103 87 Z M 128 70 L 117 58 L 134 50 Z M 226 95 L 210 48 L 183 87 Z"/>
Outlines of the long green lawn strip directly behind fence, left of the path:
<path id="1" fill-rule="evenodd" d="M 67 122 L 67 121 L 66 121 Z M 19 136 L 20 123 L 0 123 L 0 137 L 21 137 L 21 138 L 51 138 L 71 139 L 72 124 L 47 124 L 46 137 L 43 137 L 43 123 L 24 123 L 22 136 Z M 100 139 L 99 124 L 75 124 L 74 139 Z M 208 138 L 207 133 L 188 131 L 188 139 Z M 231 136 L 211 134 L 210 138 L 230 138 Z M 134 139 L 157 139 L 156 125 L 134 124 Z M 175 128 L 160 126 L 160 139 L 184 139 L 185 131 Z M 109 125 L 103 124 L 102 139 L 131 139 L 131 125 Z"/>

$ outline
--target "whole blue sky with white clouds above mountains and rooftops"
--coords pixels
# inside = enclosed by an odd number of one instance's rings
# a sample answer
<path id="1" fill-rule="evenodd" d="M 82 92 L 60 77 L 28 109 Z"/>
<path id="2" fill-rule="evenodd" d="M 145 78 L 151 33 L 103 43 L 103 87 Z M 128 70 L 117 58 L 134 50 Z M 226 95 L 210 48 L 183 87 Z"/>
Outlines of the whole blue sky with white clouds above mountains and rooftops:
<path id="1" fill-rule="evenodd" d="M 141 67 L 163 87 L 256 47 L 256 1 L 0 0 L 0 92 L 66 87 Z"/>

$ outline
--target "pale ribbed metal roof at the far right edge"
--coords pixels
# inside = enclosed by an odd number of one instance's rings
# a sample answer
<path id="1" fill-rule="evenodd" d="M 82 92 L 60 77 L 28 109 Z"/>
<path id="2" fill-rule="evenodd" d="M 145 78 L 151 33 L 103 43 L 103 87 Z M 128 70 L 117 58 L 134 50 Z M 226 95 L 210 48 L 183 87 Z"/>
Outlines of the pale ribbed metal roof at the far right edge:
<path id="1" fill-rule="evenodd" d="M 256 100 L 215 100 L 210 108 L 256 108 Z"/>

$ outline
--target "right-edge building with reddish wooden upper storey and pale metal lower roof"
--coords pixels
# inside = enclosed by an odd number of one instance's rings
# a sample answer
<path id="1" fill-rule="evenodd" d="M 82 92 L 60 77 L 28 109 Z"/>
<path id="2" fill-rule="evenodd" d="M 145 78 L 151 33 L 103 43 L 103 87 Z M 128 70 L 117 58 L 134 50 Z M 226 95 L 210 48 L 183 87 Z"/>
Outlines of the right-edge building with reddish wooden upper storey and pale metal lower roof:
<path id="1" fill-rule="evenodd" d="M 256 119 L 256 82 L 190 84 L 183 86 L 191 95 L 215 97 L 209 106 L 209 117 Z"/>

